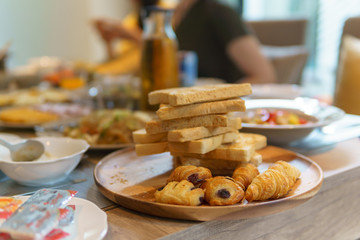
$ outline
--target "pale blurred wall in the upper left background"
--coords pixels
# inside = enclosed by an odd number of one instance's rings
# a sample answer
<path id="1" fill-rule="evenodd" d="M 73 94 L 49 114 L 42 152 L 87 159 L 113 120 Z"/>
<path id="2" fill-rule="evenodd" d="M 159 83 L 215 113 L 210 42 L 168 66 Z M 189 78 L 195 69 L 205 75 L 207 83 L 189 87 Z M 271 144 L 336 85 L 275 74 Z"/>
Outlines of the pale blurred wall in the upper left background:
<path id="1" fill-rule="evenodd" d="M 0 0 L 0 48 L 12 42 L 10 68 L 38 56 L 101 61 L 105 50 L 91 19 L 121 19 L 130 5 L 130 0 Z"/>

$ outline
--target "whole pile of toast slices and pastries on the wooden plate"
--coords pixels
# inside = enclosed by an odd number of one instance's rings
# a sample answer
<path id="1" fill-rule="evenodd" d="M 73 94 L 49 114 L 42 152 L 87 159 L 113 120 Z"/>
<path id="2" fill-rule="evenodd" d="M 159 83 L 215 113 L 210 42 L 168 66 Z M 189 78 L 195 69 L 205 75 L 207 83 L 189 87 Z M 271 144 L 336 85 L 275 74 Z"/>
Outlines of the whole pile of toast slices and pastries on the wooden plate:
<path id="1" fill-rule="evenodd" d="M 136 153 L 142 156 L 169 151 L 176 167 L 166 186 L 156 191 L 155 201 L 196 206 L 204 194 L 205 204 L 222 206 L 280 198 L 289 192 L 300 171 L 280 161 L 259 174 L 259 151 L 267 146 L 267 139 L 261 134 L 239 132 L 242 119 L 232 112 L 246 110 L 239 97 L 250 93 L 249 84 L 221 84 L 149 94 L 150 104 L 160 104 L 160 108 L 145 129 L 134 133 Z M 263 177 L 267 172 L 280 174 L 272 176 L 277 185 L 261 185 L 267 180 Z M 203 193 L 198 192 L 190 204 L 185 193 L 197 189 Z M 273 194 L 262 198 L 262 190 Z"/>

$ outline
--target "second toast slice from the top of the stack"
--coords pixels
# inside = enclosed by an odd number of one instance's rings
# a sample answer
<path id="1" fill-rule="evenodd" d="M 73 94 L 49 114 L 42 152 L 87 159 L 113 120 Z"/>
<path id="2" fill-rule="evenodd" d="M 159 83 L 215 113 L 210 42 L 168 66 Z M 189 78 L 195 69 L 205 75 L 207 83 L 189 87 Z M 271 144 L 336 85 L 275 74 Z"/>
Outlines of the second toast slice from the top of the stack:
<path id="1" fill-rule="evenodd" d="M 208 114 L 245 112 L 245 110 L 245 101 L 238 98 L 215 102 L 195 103 L 176 107 L 170 105 L 161 105 L 159 110 L 156 111 L 156 114 L 161 120 L 170 120 Z"/>

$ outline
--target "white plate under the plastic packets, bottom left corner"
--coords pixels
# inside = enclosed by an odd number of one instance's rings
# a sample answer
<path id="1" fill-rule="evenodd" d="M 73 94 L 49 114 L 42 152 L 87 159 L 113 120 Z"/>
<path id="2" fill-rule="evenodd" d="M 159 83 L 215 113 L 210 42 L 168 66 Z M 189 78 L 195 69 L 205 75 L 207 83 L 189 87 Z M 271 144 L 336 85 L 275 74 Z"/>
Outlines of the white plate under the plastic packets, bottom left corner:
<path id="1" fill-rule="evenodd" d="M 29 197 L 18 197 L 26 201 Z M 107 215 L 94 203 L 72 198 L 68 205 L 75 205 L 75 222 L 63 230 L 70 236 L 62 240 L 100 240 L 107 233 Z"/>

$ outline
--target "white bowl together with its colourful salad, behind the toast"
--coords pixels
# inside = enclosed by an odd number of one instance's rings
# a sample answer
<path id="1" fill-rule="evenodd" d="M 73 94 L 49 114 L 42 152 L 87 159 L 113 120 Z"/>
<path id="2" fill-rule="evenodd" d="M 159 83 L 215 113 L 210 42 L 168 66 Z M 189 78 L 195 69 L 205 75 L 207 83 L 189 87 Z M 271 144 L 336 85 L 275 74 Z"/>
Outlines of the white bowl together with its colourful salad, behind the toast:
<path id="1" fill-rule="evenodd" d="M 312 98 L 249 99 L 240 131 L 263 134 L 270 144 L 285 145 L 306 138 L 315 129 L 340 120 L 344 111 Z"/>

